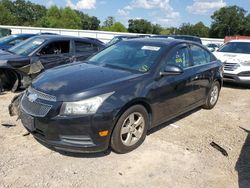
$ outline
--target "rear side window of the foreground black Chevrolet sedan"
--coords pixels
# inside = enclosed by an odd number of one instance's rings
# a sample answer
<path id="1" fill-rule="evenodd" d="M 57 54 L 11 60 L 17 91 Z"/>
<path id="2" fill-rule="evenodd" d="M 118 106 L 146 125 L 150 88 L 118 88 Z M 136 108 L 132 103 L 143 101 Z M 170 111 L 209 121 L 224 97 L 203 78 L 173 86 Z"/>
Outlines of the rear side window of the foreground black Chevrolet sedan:
<path id="1" fill-rule="evenodd" d="M 202 49 L 199 46 L 192 45 L 191 46 L 191 53 L 193 56 L 194 66 L 204 65 L 206 63 L 211 62 L 210 54 L 206 50 Z"/>

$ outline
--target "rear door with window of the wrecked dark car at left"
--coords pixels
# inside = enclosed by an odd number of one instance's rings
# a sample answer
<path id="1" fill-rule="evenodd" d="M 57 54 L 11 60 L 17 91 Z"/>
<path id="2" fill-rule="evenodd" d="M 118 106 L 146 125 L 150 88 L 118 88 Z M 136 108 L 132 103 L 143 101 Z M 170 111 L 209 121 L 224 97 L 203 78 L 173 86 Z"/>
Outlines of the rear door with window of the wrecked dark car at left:
<path id="1" fill-rule="evenodd" d="M 96 44 L 90 41 L 75 40 L 75 60 L 83 61 L 89 56 L 98 52 L 99 48 Z"/>

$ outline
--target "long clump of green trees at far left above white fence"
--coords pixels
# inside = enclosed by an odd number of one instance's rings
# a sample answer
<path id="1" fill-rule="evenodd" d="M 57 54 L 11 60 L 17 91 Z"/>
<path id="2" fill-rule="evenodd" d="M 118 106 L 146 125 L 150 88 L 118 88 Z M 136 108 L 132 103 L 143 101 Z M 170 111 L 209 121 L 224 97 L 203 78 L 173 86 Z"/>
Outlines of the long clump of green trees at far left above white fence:
<path id="1" fill-rule="evenodd" d="M 67 29 L 99 29 L 96 17 L 69 7 L 46 7 L 25 0 L 0 0 L 0 23 L 5 25 L 41 26 Z"/>

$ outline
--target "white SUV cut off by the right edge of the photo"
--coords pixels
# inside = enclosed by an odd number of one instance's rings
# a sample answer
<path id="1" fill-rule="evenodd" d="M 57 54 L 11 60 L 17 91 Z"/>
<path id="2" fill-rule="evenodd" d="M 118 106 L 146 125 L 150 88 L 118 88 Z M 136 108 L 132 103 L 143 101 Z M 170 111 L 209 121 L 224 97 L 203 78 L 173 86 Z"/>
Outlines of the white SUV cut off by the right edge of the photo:
<path id="1" fill-rule="evenodd" d="M 232 40 L 214 52 L 224 62 L 224 80 L 250 84 L 250 40 Z"/>

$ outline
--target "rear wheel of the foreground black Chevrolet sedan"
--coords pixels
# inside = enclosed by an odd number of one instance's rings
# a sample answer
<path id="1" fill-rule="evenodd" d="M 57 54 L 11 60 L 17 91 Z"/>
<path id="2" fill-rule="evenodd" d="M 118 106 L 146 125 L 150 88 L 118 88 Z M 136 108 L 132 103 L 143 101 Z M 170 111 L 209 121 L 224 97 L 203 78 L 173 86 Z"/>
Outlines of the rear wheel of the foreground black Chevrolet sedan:
<path id="1" fill-rule="evenodd" d="M 215 81 L 212 84 L 212 87 L 210 88 L 210 91 L 206 99 L 206 103 L 202 106 L 202 108 L 212 109 L 216 105 L 219 99 L 220 89 L 221 89 L 220 83 L 218 81 Z"/>

